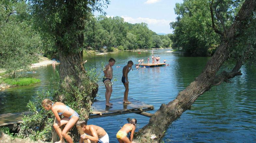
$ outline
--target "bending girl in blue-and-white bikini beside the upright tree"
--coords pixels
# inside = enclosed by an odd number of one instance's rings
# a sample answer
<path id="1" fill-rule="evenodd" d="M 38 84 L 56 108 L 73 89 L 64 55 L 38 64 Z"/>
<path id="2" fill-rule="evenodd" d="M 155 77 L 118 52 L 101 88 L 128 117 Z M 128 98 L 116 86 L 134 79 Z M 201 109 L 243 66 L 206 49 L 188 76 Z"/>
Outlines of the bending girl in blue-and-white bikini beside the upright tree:
<path id="1" fill-rule="evenodd" d="M 45 110 L 51 110 L 56 117 L 55 123 L 53 124 L 54 129 L 56 130 L 60 141 L 55 143 L 64 143 L 64 138 L 68 143 L 73 143 L 72 138 L 67 134 L 68 131 L 77 123 L 79 115 L 76 111 L 64 105 L 61 102 L 52 102 L 50 99 L 44 99 L 42 101 L 42 106 Z M 64 116 L 63 118 L 62 115 Z M 63 130 L 61 126 L 66 125 Z"/>

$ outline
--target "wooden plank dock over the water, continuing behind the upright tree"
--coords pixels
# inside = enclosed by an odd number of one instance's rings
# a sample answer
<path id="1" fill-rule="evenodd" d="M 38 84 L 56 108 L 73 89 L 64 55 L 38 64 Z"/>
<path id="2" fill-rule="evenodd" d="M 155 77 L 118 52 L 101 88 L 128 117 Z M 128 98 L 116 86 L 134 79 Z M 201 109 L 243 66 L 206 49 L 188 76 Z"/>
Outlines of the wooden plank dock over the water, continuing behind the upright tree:
<path id="1" fill-rule="evenodd" d="M 152 114 L 146 113 L 145 111 L 154 110 L 153 105 L 148 105 L 133 98 L 129 98 L 128 100 L 132 103 L 124 104 L 123 98 L 112 99 L 110 100 L 110 103 L 113 104 L 112 107 L 106 107 L 106 101 L 94 102 L 91 108 L 92 114 L 89 116 L 89 118 L 99 118 L 130 113 L 136 113 L 148 117 L 152 116 Z M 0 114 L 0 127 L 6 126 L 9 128 L 13 128 L 17 126 L 17 124 L 22 122 L 21 117 L 23 117 L 23 115 L 32 115 L 32 113 L 22 112 Z"/>

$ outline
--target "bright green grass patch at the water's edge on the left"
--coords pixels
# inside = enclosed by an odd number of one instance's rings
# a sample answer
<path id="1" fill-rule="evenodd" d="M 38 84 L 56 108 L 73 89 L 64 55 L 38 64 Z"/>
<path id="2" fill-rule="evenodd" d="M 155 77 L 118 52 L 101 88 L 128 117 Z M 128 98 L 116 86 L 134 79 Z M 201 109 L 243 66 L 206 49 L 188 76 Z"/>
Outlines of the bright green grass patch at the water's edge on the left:
<path id="1" fill-rule="evenodd" d="M 38 82 L 41 82 L 41 80 L 36 78 L 4 78 L 3 82 L 9 84 L 9 85 L 18 85 L 18 86 L 24 86 L 24 85 L 31 85 Z"/>

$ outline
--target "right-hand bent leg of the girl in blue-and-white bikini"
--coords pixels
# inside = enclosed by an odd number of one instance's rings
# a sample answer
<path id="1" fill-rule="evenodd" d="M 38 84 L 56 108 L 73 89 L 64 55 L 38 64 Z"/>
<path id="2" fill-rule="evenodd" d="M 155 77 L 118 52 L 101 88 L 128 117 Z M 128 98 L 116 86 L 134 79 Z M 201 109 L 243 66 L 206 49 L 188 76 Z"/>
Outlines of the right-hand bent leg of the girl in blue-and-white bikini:
<path id="1" fill-rule="evenodd" d="M 62 136 L 67 140 L 68 143 L 73 143 L 72 138 L 67 134 L 67 132 L 75 126 L 77 121 L 79 120 L 78 116 L 72 116 L 71 119 L 67 122 L 66 126 L 62 131 Z"/>

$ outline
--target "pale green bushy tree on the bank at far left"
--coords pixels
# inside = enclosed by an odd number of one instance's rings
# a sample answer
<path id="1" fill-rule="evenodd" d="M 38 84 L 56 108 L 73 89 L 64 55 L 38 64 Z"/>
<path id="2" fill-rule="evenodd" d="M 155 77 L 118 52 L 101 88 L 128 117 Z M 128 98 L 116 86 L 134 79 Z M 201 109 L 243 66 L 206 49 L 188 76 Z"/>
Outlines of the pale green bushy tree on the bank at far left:
<path id="1" fill-rule="evenodd" d="M 0 68 L 16 77 L 18 70 L 28 70 L 37 60 L 40 37 L 30 26 L 25 2 L 1 1 Z"/>

